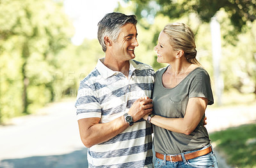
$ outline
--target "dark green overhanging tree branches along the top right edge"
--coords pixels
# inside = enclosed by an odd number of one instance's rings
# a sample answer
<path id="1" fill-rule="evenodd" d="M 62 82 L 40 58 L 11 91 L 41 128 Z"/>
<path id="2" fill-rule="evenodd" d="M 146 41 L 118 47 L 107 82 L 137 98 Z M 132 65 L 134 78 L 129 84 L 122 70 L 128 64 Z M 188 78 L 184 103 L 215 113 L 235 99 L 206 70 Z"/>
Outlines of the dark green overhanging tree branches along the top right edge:
<path id="1" fill-rule="evenodd" d="M 134 0 L 124 0 L 134 1 Z M 197 13 L 203 22 L 210 22 L 217 11 L 223 8 L 230 18 L 236 32 L 240 32 L 246 22 L 256 19 L 255 0 L 136 0 L 138 17 L 153 16 L 162 13 L 170 18 L 180 18 L 188 13 Z M 145 12 L 147 11 L 145 14 Z"/>

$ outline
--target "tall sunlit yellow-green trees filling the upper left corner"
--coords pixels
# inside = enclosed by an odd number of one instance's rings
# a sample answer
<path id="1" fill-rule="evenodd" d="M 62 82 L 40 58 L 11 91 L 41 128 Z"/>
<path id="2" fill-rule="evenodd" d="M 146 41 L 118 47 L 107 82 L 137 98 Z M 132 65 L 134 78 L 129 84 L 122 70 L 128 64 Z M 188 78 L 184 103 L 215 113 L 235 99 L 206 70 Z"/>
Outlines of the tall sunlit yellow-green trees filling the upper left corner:
<path id="1" fill-rule="evenodd" d="M 74 30 L 51 0 L 0 3 L 0 122 L 54 100 L 56 56 Z"/>

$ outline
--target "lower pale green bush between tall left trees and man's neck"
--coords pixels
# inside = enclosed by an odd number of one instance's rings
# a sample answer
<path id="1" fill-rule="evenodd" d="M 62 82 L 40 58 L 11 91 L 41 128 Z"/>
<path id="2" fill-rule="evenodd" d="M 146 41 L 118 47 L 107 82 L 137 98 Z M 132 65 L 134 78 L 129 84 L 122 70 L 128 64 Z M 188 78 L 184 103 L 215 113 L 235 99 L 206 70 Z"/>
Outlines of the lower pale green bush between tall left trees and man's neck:
<path id="1" fill-rule="evenodd" d="M 84 39 L 81 45 L 70 45 L 62 50 L 56 57 L 58 62 L 58 69 L 54 73 L 56 98 L 76 96 L 79 81 L 93 71 L 97 60 L 104 56 L 97 39 Z"/>

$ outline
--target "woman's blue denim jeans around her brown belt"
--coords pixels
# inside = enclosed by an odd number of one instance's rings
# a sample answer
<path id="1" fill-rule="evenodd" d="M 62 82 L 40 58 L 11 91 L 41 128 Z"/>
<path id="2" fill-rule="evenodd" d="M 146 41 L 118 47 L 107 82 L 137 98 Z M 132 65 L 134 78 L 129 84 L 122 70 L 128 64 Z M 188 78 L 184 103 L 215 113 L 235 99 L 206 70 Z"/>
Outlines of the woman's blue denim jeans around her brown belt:
<path id="1" fill-rule="evenodd" d="M 204 150 L 205 148 L 208 148 L 211 146 L 211 144 L 204 146 L 204 148 L 200 150 Z M 198 151 L 198 150 L 193 150 L 193 151 Z M 171 161 L 166 161 L 166 155 L 164 156 L 164 160 L 156 158 L 155 162 L 155 168 L 159 167 L 173 167 L 173 168 L 191 168 L 191 167 L 198 167 L 198 168 L 203 168 L 203 167 L 217 167 L 218 168 L 218 162 L 217 158 L 214 154 L 213 151 L 208 153 L 207 155 L 201 156 L 201 157 L 196 157 L 192 158 L 190 160 L 186 160 L 184 157 L 184 154 L 186 153 L 191 153 L 193 151 L 186 151 L 184 153 L 180 153 L 182 155 L 182 161 L 180 162 L 171 162 Z"/>

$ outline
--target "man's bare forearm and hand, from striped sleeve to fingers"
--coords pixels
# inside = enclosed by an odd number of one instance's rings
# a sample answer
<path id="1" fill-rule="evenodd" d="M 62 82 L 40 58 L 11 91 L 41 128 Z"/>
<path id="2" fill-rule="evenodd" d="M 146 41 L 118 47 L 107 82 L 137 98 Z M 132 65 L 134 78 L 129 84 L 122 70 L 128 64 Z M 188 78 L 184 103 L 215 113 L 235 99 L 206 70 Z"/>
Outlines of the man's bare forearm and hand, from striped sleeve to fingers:
<path id="1" fill-rule="evenodd" d="M 129 115 L 134 122 L 152 111 L 152 99 L 141 97 L 136 100 L 129 109 Z M 123 132 L 129 123 L 125 122 L 124 116 L 120 116 L 108 123 L 99 123 L 100 118 L 83 118 L 78 120 L 81 140 L 87 148 L 108 141 Z M 131 126 L 132 127 L 132 126 Z"/>

